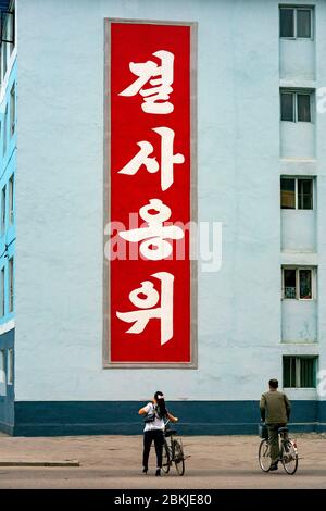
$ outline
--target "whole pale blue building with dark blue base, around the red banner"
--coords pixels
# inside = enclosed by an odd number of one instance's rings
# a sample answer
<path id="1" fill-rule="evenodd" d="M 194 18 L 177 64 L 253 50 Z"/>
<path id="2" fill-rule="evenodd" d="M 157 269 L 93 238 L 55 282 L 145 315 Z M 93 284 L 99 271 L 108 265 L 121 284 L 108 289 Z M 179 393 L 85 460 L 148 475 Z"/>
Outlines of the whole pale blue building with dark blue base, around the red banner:
<path id="1" fill-rule="evenodd" d="M 136 434 L 163 390 L 185 434 L 256 433 L 271 377 L 291 428 L 325 429 L 325 1 L 0 5 L 1 429 Z M 189 367 L 103 364 L 105 20 L 197 27 L 192 186 L 222 264 L 192 275 Z"/>

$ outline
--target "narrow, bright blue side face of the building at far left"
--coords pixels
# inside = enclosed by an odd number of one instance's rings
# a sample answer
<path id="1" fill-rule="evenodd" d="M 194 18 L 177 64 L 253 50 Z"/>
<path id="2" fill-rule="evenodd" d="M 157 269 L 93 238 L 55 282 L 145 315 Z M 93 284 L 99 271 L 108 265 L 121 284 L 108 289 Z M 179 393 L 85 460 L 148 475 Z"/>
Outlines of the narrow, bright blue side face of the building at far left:
<path id="1" fill-rule="evenodd" d="M 5 425 L 13 424 L 14 421 L 14 267 L 16 240 L 15 175 L 17 166 L 17 67 L 14 3 L 0 2 L 0 423 Z"/>

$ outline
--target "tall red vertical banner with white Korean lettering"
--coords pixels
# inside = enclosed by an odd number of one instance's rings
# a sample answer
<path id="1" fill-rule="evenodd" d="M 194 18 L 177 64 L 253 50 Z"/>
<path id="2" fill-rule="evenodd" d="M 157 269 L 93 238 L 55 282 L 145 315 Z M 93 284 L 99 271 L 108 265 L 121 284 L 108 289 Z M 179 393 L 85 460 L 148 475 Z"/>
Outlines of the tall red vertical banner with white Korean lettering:
<path id="1" fill-rule="evenodd" d="M 196 366 L 192 30 L 105 21 L 108 366 Z"/>

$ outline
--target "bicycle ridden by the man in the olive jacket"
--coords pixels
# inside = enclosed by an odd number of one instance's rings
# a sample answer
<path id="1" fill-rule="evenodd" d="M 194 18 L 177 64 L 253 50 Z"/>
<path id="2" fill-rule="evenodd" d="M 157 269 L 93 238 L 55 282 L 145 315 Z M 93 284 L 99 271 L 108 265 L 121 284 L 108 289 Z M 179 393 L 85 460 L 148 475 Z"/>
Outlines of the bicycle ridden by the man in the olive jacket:
<path id="1" fill-rule="evenodd" d="M 268 436 L 266 437 L 266 435 L 268 435 L 267 427 L 262 426 L 262 428 L 263 432 L 261 436 L 263 437 L 263 439 L 259 448 L 259 463 L 263 472 L 269 472 L 272 464 L 271 445 Z M 288 431 L 288 427 L 278 428 L 278 435 L 280 437 L 279 461 L 281 462 L 286 473 L 289 475 L 293 475 L 298 469 L 298 448 L 296 440 L 292 440 L 286 435 Z"/>

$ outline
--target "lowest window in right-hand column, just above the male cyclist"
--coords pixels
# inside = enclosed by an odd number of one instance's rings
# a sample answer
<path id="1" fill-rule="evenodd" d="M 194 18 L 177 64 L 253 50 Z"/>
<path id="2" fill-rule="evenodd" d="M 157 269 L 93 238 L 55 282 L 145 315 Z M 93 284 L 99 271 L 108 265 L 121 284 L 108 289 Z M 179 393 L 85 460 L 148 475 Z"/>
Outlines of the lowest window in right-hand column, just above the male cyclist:
<path id="1" fill-rule="evenodd" d="M 283 386 L 316 388 L 317 357 L 284 357 Z"/>

